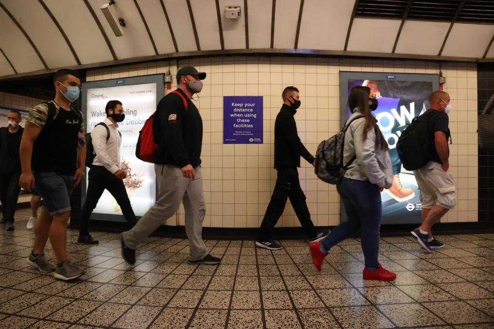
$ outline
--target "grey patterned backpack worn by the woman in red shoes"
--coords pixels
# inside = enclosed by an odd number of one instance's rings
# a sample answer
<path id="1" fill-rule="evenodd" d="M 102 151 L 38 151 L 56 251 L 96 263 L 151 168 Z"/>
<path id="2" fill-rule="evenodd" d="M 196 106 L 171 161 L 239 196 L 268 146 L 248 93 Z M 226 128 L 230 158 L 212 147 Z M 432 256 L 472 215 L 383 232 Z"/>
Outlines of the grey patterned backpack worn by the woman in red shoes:
<path id="1" fill-rule="evenodd" d="M 315 153 L 314 172 L 319 179 L 329 184 L 337 184 L 345 171 L 355 161 L 354 155 L 345 165 L 343 165 L 343 148 L 345 145 L 345 133 L 352 122 L 363 118 L 363 115 L 356 116 L 350 122 L 345 122 L 343 129 L 338 134 L 323 140 L 317 147 Z"/>

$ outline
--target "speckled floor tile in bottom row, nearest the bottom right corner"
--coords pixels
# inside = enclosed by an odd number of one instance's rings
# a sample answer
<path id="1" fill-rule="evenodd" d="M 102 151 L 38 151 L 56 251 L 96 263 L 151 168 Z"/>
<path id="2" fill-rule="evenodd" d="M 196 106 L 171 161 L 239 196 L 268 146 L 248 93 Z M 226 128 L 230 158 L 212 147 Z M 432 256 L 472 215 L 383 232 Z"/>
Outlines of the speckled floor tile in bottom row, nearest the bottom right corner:
<path id="1" fill-rule="evenodd" d="M 463 301 L 429 302 L 423 305 L 448 323 L 464 324 L 494 321 Z"/>

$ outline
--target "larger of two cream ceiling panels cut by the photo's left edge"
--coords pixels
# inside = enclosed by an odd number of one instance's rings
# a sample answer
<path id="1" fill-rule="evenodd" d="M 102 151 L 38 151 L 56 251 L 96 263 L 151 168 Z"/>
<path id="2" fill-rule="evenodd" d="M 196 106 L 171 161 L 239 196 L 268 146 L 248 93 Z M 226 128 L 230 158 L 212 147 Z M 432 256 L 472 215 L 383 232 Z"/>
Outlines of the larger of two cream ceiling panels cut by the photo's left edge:
<path id="1" fill-rule="evenodd" d="M 19 73 L 44 69 L 43 63 L 24 34 L 0 9 L 0 48 Z"/>

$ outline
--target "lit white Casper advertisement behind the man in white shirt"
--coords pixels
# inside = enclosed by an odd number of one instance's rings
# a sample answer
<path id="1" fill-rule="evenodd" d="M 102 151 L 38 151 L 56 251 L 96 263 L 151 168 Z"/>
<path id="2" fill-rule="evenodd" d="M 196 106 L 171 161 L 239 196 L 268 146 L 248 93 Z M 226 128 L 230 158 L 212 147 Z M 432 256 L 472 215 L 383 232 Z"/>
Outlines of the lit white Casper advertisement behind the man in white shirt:
<path id="1" fill-rule="evenodd" d="M 146 78 L 149 81 L 149 77 L 141 79 Z M 105 81 L 87 83 L 84 86 L 83 93 L 86 96 L 87 132 L 91 132 L 96 124 L 106 119 L 104 108 L 108 101 L 119 100 L 122 102 L 125 119 L 118 123 L 118 130 L 122 136 L 120 145 L 121 169 L 127 174 L 127 178 L 123 180 L 123 183 L 127 189 L 135 215 L 142 216 L 154 204 L 155 174 L 152 163 L 143 162 L 136 158 L 135 146 L 139 131 L 149 116 L 156 111 L 156 102 L 163 95 L 163 87 L 162 85 L 157 87 L 156 82 L 133 84 L 133 79 L 138 78 L 112 80 L 111 82 L 106 82 L 107 85 L 112 85 L 108 87 L 92 87 L 91 85 L 104 84 Z M 159 94 L 159 98 L 157 98 L 157 94 Z M 100 214 L 106 214 L 106 216 L 101 216 Z M 115 199 L 110 192 L 105 190 L 91 218 L 116 220 L 116 217 L 108 215 L 121 214 L 120 207 Z"/>

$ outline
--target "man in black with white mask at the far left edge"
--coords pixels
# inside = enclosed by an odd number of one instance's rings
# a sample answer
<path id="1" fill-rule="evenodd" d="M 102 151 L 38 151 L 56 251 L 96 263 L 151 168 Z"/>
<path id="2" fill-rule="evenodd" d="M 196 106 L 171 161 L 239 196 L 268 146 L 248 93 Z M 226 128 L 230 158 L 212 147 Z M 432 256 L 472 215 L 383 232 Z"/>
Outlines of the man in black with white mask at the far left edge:
<path id="1" fill-rule="evenodd" d="M 14 215 L 21 187 L 21 145 L 23 127 L 21 113 L 10 111 L 7 114 L 9 125 L 0 128 L 0 200 L 2 201 L 2 223 L 7 231 L 14 230 Z"/>

